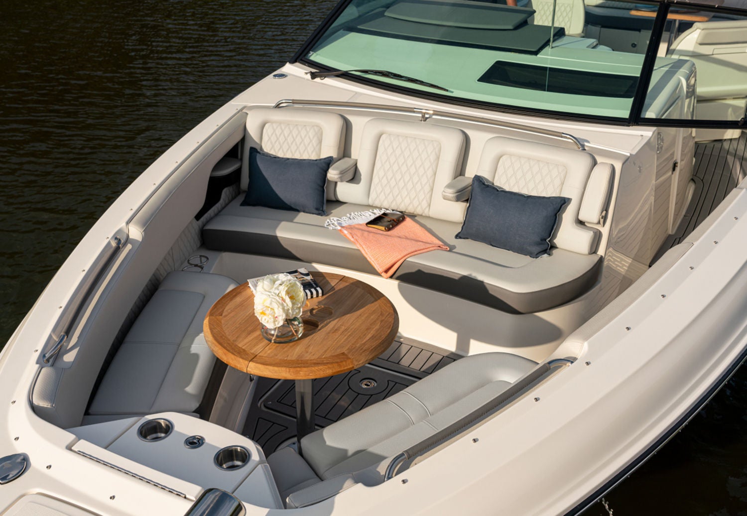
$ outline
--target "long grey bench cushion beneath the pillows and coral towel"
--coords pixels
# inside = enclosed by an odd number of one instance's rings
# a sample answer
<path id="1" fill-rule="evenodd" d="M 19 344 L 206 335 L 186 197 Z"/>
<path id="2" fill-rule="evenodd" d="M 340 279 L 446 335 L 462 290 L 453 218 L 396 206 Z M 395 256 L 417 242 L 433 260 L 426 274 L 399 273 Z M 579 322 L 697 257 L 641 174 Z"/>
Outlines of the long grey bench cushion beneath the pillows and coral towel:
<path id="1" fill-rule="evenodd" d="M 362 253 L 339 231 L 324 227 L 326 217 L 271 208 L 226 206 L 202 230 L 209 249 L 291 258 L 376 274 Z M 370 206 L 327 202 L 330 217 Z M 412 216 L 450 247 L 408 258 L 394 279 L 478 302 L 512 314 L 554 308 L 580 296 L 598 279 L 599 255 L 551 249 L 530 258 L 485 243 L 455 237 L 460 223 Z M 333 251 L 332 251 L 333 249 Z"/>

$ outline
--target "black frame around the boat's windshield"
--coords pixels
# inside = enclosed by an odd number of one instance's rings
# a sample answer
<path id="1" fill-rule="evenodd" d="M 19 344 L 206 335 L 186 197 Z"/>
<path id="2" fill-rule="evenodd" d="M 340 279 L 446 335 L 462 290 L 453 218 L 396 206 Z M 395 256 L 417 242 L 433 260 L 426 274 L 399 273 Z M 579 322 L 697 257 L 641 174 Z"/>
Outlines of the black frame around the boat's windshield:
<path id="1" fill-rule="evenodd" d="M 347 8 L 347 6 L 353 0 L 340 0 L 338 4 L 329 12 L 326 19 L 314 30 L 309 39 L 301 46 L 296 54 L 291 58 L 291 63 L 300 63 L 305 66 L 320 70 L 322 72 L 334 72 L 337 71 L 334 68 L 323 66 L 320 63 L 314 62 L 314 60 L 306 57 L 310 52 L 311 48 L 316 45 L 323 34 L 332 26 L 335 19 L 341 15 L 341 13 Z M 342 78 L 347 80 L 358 82 L 360 84 L 366 84 L 372 87 L 376 87 L 381 90 L 387 90 L 394 93 L 402 93 L 408 96 L 415 96 L 421 99 L 433 100 L 436 102 L 444 102 L 446 104 L 460 105 L 468 108 L 485 109 L 488 111 L 498 111 L 500 113 L 508 114 L 520 114 L 530 116 L 542 116 L 546 118 L 557 119 L 559 115 L 562 115 L 564 119 L 580 121 L 580 122 L 598 122 L 606 125 L 644 125 L 652 127 L 686 127 L 686 128 L 747 128 L 745 126 L 745 119 L 725 121 L 725 120 L 705 120 L 705 119 L 651 119 L 642 116 L 642 111 L 645 105 L 645 99 L 648 95 L 648 87 L 651 84 L 651 76 L 654 72 L 654 65 L 656 64 L 656 49 L 659 48 L 659 44 L 662 40 L 663 32 L 666 28 L 666 17 L 669 13 L 669 7 L 675 4 L 683 4 L 682 1 L 674 0 L 654 0 L 659 4 L 656 18 L 654 19 L 654 25 L 651 30 L 651 37 L 648 41 L 648 48 L 644 57 L 640 80 L 636 88 L 636 94 L 633 96 L 633 102 L 630 105 L 630 112 L 627 117 L 610 117 L 610 116 L 598 116 L 590 114 L 579 114 L 579 113 L 568 113 L 565 111 L 551 111 L 543 109 L 528 109 L 521 108 L 512 105 L 501 105 L 492 102 L 482 102 L 471 99 L 459 99 L 453 96 L 442 95 L 440 93 L 432 93 L 424 90 L 418 90 L 411 87 L 400 86 L 397 84 L 391 84 L 385 81 L 377 81 L 375 78 L 370 76 L 362 76 L 355 74 L 344 74 Z M 713 4 L 700 3 L 697 1 L 687 1 L 688 7 L 697 7 L 699 10 L 706 10 L 713 13 L 725 13 L 725 14 L 736 14 L 739 16 L 747 16 L 747 10 L 737 9 L 734 7 L 719 7 Z M 633 5 L 633 4 L 631 4 Z"/>

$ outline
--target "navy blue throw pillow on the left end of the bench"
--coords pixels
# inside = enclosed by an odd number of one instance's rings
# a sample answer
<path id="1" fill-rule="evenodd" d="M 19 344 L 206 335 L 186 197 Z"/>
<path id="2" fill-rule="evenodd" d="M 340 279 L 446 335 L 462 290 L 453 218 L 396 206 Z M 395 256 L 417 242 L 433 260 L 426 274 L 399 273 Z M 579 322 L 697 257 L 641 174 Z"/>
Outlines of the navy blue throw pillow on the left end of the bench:
<path id="1" fill-rule="evenodd" d="M 241 205 L 326 215 L 324 187 L 333 159 L 280 158 L 251 147 L 249 188 Z"/>

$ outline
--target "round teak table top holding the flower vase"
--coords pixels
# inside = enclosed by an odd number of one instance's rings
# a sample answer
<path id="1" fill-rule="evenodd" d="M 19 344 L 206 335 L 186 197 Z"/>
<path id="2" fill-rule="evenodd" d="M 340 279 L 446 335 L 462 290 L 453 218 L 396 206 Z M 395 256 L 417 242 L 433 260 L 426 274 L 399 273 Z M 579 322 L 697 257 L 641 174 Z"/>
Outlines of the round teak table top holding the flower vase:
<path id="1" fill-rule="evenodd" d="M 235 369 L 277 379 L 314 379 L 368 364 L 399 329 L 394 305 L 379 290 L 334 273 L 311 273 L 324 295 L 306 301 L 301 338 L 271 344 L 259 332 L 247 283 L 217 300 L 205 317 L 205 340 Z"/>

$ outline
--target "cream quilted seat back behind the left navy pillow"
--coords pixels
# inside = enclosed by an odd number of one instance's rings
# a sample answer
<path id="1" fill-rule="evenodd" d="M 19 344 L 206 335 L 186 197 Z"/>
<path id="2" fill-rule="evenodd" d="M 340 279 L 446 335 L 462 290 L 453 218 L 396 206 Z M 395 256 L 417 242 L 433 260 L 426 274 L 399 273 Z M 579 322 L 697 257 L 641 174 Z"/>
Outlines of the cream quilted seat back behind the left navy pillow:
<path id="1" fill-rule="evenodd" d="M 345 122 L 336 113 L 257 108 L 249 111 L 241 164 L 241 190 L 249 184 L 249 147 L 283 158 L 341 158 Z"/>

